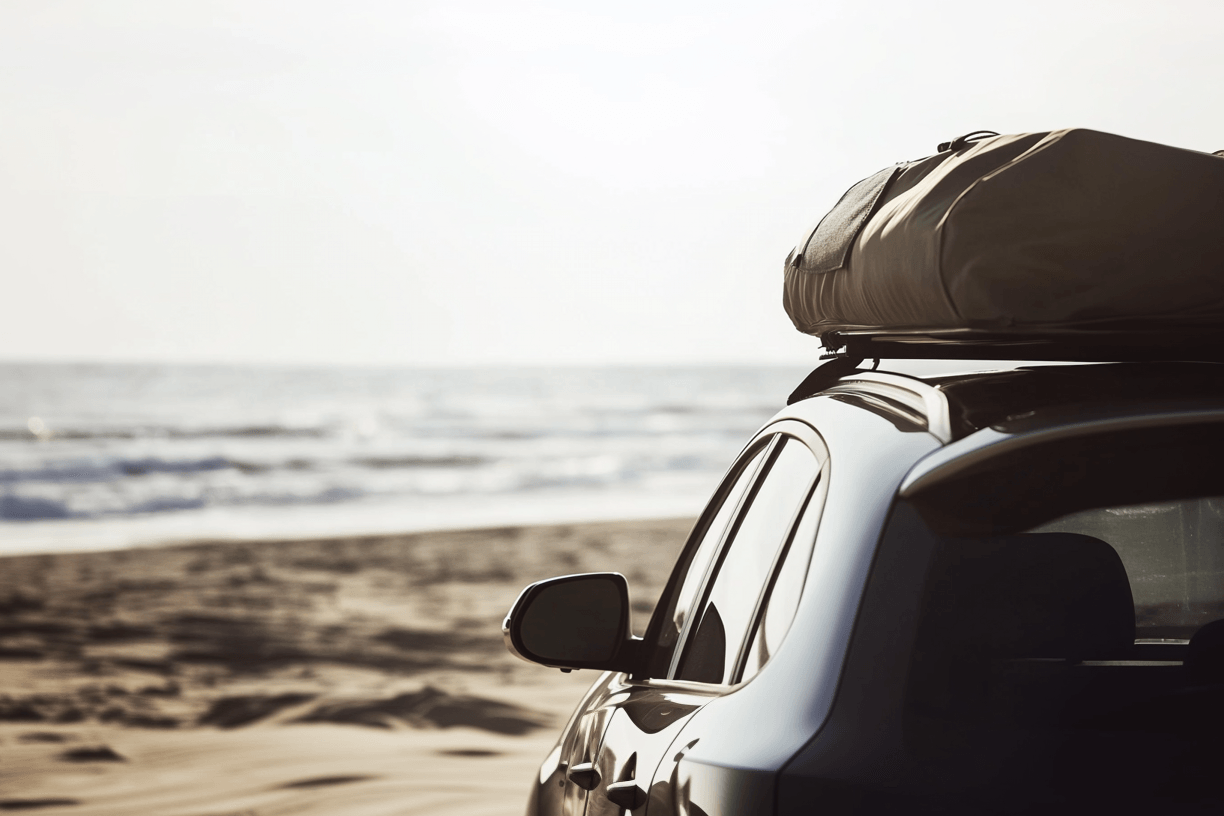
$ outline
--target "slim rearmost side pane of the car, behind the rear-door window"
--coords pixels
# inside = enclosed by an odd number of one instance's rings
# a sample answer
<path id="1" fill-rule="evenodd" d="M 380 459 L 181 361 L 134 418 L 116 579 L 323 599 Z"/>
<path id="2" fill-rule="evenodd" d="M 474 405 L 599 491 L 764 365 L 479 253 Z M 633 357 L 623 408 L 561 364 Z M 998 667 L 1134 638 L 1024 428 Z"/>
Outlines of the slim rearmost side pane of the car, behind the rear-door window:
<path id="1" fill-rule="evenodd" d="M 808 564 L 812 562 L 816 527 L 820 525 L 820 511 L 824 509 L 823 498 L 824 491 L 818 483 L 803 508 L 803 515 L 799 517 L 794 536 L 791 537 L 778 558 L 781 563 L 774 573 L 774 586 L 765 596 L 760 618 L 753 630 L 748 656 L 739 677 L 736 678 L 737 680 L 747 680 L 760 672 L 782 639 L 786 637 L 786 632 L 791 630 L 791 621 L 794 620 L 794 612 L 799 607 L 799 595 L 803 592 L 803 585 L 808 577 Z"/>

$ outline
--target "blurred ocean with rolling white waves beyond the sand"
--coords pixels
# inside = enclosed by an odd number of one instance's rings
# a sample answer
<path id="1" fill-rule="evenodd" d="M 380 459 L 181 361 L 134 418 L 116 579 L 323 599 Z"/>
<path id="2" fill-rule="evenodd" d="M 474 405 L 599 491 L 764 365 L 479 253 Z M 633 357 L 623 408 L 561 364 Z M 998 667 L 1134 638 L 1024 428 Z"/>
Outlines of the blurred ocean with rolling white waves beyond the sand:
<path id="1" fill-rule="evenodd" d="M 0 554 L 693 516 L 805 373 L 0 363 Z"/>

